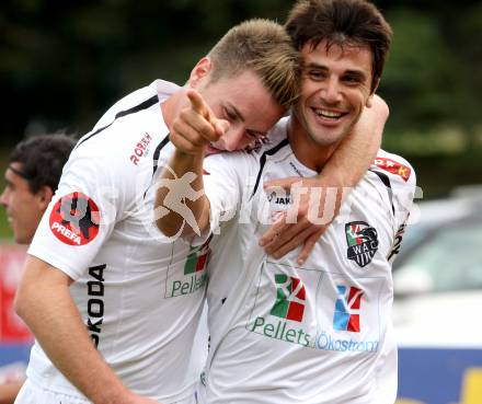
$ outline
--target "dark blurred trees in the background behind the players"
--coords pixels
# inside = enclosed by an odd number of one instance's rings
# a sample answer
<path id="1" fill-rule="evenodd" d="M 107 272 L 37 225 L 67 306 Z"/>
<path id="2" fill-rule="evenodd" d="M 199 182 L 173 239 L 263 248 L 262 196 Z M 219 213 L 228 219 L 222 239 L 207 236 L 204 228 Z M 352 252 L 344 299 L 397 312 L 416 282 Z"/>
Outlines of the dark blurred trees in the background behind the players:
<path id="1" fill-rule="evenodd" d="M 3 0 L 2 148 L 59 129 L 82 135 L 156 78 L 182 84 L 233 24 L 284 22 L 291 0 Z M 482 183 L 482 3 L 376 1 L 394 30 L 379 93 L 383 147 L 406 157 L 425 196 Z"/>

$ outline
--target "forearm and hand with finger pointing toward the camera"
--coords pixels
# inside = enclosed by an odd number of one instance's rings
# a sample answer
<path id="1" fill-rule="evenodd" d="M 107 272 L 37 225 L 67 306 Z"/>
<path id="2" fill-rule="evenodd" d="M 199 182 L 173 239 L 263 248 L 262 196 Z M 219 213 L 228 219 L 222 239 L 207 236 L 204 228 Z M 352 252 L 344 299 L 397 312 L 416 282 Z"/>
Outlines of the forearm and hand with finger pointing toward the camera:
<path id="1" fill-rule="evenodd" d="M 188 90 L 186 95 L 191 104 L 181 111 L 171 128 L 175 151 L 156 184 L 156 224 L 168 236 L 199 234 L 208 227 L 203 161 L 209 143 L 229 127 L 226 120 L 214 116 L 199 93 Z"/>

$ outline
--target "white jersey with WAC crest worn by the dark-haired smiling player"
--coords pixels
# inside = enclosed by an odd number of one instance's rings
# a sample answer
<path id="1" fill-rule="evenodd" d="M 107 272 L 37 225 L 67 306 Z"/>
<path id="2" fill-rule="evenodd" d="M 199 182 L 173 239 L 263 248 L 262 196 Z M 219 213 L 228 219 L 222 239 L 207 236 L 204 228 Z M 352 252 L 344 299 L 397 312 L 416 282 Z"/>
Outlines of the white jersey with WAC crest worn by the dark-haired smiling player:
<path id="1" fill-rule="evenodd" d="M 257 245 L 289 194 L 265 181 L 313 176 L 286 138 L 286 120 L 259 153 L 206 159 L 213 229 L 208 265 L 210 350 L 204 400 L 218 403 L 393 403 L 397 347 L 389 257 L 414 195 L 413 169 L 379 152 L 303 265 Z M 391 259 L 391 258 L 390 258 Z"/>

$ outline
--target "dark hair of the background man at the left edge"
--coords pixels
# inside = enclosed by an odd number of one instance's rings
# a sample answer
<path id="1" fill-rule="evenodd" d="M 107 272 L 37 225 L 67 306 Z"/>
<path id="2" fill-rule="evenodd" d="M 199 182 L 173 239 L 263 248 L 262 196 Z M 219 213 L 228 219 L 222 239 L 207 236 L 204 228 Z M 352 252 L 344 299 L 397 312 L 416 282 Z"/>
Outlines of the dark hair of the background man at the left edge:
<path id="1" fill-rule="evenodd" d="M 56 191 L 77 139 L 64 134 L 39 135 L 22 140 L 11 151 L 9 163 L 21 163 L 22 176 L 35 194 L 44 185 Z"/>

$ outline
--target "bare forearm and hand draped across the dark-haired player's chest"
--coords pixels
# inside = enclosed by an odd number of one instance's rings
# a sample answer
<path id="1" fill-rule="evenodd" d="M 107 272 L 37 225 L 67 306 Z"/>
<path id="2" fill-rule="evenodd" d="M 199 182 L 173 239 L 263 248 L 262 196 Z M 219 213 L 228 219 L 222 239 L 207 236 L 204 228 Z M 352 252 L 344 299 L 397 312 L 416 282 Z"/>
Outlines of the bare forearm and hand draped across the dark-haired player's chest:
<path id="1" fill-rule="evenodd" d="M 388 116 L 388 105 L 375 95 L 371 106 L 364 109 L 354 130 L 340 143 L 318 176 L 289 177 L 265 184 L 265 187 L 280 186 L 296 195 L 297 199 L 294 205 L 297 210 L 288 211 L 260 240 L 266 253 L 280 258 L 303 245 L 298 263 L 306 261 L 315 242 L 337 216 L 342 199 L 374 162 Z"/>

